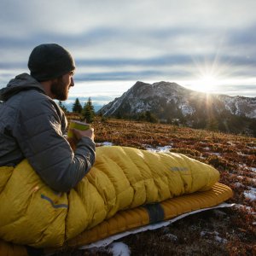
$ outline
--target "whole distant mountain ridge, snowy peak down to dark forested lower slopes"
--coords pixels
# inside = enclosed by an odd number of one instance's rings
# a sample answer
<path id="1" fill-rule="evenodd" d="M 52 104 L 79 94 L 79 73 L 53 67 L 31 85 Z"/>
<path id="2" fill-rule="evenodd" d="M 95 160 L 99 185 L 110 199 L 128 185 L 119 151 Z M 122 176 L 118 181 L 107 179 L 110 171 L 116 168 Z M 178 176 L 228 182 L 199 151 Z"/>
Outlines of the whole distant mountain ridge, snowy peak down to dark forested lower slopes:
<path id="1" fill-rule="evenodd" d="M 137 82 L 99 112 L 132 119 L 149 112 L 161 122 L 256 136 L 256 97 L 209 95 L 169 82 Z"/>

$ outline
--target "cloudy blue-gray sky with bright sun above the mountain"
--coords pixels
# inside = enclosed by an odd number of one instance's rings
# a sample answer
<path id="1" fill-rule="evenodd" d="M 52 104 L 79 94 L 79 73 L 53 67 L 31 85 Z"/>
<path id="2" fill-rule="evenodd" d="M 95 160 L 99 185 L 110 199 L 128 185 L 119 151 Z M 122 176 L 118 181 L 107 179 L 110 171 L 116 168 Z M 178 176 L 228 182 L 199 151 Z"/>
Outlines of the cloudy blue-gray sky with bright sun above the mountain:
<path id="1" fill-rule="evenodd" d="M 255 0 L 1 0 L 0 88 L 38 44 L 73 55 L 75 97 L 103 105 L 137 81 L 256 96 Z M 67 101 L 67 102 L 68 102 Z"/>

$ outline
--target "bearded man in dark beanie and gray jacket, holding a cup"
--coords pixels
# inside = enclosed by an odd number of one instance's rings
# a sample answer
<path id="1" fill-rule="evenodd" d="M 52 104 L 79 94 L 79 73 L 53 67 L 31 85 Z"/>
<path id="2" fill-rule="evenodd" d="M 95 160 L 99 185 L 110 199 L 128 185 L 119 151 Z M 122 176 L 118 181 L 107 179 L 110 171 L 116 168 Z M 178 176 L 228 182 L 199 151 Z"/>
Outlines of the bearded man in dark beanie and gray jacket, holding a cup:
<path id="1" fill-rule="evenodd" d="M 67 100 L 75 63 L 60 45 L 40 44 L 28 68 L 30 75 L 22 73 L 0 90 L 0 166 L 26 158 L 51 189 L 66 192 L 90 171 L 96 156 L 93 129 L 74 129 L 72 150 L 63 137 L 67 119 L 53 101 Z"/>

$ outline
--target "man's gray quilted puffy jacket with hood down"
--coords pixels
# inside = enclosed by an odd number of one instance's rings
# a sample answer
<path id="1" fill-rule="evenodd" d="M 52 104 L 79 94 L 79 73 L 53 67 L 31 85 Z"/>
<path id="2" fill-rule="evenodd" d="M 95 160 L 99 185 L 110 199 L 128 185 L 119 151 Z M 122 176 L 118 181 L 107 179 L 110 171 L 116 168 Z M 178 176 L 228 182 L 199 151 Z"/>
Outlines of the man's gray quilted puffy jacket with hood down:
<path id="1" fill-rule="evenodd" d="M 95 143 L 83 137 L 73 152 L 63 137 L 65 114 L 37 80 L 20 74 L 0 90 L 0 101 L 0 166 L 26 158 L 56 191 L 72 189 L 90 171 Z"/>

